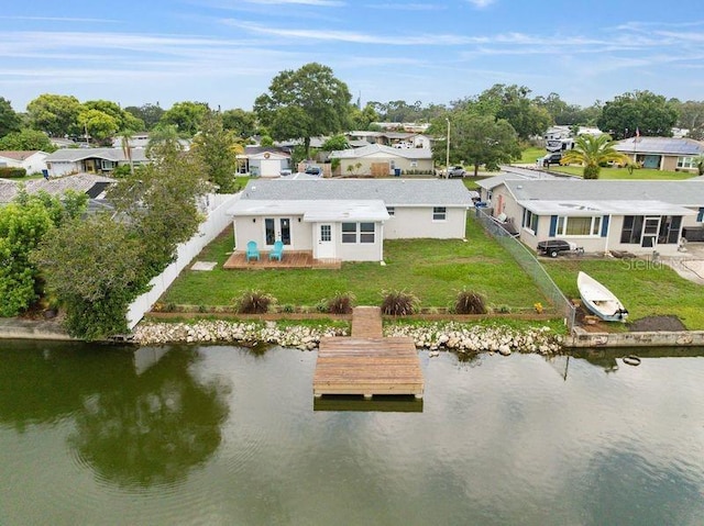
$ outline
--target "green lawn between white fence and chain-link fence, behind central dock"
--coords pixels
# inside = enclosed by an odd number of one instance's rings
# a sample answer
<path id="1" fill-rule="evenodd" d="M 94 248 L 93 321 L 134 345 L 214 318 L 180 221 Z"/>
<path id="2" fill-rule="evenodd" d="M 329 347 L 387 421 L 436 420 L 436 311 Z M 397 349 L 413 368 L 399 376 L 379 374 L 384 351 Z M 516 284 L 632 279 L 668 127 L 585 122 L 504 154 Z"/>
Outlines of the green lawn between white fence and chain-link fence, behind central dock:
<path id="1" fill-rule="evenodd" d="M 217 261 L 212 271 L 184 270 L 162 303 L 230 305 L 245 290 L 271 293 L 280 305 L 316 305 L 336 292 L 352 292 L 355 304 L 378 305 L 384 290 L 416 294 L 424 307 L 447 307 L 466 288 L 485 295 L 487 304 L 532 311 L 546 300 L 531 279 L 474 221 L 461 239 L 395 239 L 384 242 L 386 266 L 345 262 L 341 270 L 223 270 L 232 250 L 232 228 L 204 249 L 198 260 Z"/>

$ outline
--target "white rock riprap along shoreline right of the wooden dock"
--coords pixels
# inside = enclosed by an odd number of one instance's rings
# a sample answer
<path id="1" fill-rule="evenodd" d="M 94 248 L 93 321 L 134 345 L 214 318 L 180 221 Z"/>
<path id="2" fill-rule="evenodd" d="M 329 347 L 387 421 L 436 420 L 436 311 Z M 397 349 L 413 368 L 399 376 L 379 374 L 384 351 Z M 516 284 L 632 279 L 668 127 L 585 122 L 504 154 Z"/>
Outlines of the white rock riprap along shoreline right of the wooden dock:
<path id="1" fill-rule="evenodd" d="M 460 352 L 537 352 L 551 355 L 562 349 L 562 337 L 550 327 L 515 329 L 507 326 L 469 325 L 454 322 L 429 325 L 394 324 L 384 327 L 384 336 L 414 338 L 416 347 Z"/>

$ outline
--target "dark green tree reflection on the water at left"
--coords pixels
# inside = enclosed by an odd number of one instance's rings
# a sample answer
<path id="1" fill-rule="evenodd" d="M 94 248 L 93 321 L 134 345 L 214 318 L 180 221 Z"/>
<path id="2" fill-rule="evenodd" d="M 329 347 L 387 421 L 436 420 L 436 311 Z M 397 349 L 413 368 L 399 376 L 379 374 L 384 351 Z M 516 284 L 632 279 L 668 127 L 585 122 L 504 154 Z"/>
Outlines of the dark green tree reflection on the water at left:
<path id="1" fill-rule="evenodd" d="M 22 430 L 72 415 L 67 441 L 99 480 L 121 488 L 184 480 L 221 443 L 228 387 L 194 377 L 201 357 L 193 348 L 174 349 L 143 371 L 133 350 L 47 345 L 42 354 L 4 352 L 0 422 Z"/>

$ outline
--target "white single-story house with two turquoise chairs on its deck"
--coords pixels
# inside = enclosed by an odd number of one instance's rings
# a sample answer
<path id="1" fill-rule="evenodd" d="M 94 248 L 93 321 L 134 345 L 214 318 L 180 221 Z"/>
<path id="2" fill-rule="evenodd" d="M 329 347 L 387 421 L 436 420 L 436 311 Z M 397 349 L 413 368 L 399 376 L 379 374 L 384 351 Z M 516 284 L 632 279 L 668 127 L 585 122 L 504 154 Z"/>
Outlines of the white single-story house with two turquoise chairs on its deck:
<path id="1" fill-rule="evenodd" d="M 315 259 L 381 261 L 384 239 L 464 238 L 476 192 L 459 180 L 252 180 L 228 211 L 235 250 L 282 240 Z M 413 255 L 409 255 L 413 257 Z"/>

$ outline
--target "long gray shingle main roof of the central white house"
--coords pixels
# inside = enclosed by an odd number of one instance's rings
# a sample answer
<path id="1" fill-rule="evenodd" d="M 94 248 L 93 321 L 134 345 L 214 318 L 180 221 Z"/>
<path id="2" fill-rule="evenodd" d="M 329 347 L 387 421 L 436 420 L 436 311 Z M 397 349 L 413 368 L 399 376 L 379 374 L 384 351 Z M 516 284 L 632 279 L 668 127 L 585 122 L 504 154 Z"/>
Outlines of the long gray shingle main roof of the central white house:
<path id="1" fill-rule="evenodd" d="M 447 179 L 321 179 L 290 181 L 256 179 L 242 191 L 242 200 L 257 201 L 374 201 L 388 206 L 472 206 L 471 192 L 460 180 Z"/>

